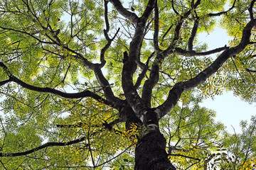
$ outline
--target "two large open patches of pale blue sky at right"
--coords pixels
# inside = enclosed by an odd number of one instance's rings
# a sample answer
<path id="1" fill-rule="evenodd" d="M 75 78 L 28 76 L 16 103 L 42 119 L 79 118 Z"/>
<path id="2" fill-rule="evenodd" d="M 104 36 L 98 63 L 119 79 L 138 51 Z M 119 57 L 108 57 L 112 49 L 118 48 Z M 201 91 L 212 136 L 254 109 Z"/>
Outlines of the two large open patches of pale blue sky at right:
<path id="1" fill-rule="evenodd" d="M 228 37 L 225 30 L 221 28 L 215 29 L 213 33 L 201 33 L 198 37 L 199 42 L 207 42 L 208 50 L 215 49 L 216 47 L 223 47 L 228 45 Z M 228 132 L 234 133 L 241 132 L 240 121 L 248 120 L 252 115 L 256 115 L 256 103 L 249 104 L 242 101 L 239 97 L 233 96 L 233 92 L 224 93 L 221 96 L 207 98 L 203 101 L 201 106 L 213 109 L 216 112 L 216 121 L 224 123 Z"/>

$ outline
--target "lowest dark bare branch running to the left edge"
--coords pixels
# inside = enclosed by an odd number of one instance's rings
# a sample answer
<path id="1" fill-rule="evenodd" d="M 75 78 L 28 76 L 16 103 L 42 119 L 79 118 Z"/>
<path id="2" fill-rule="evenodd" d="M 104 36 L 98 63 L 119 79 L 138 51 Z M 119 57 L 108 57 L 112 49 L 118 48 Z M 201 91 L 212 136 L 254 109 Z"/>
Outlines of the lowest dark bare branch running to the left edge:
<path id="1" fill-rule="evenodd" d="M 30 149 L 28 151 L 25 152 L 16 152 L 16 153 L 0 153 L 0 157 L 18 157 L 18 156 L 23 156 L 23 155 L 27 155 L 27 154 L 31 154 L 33 152 L 36 152 L 38 150 L 44 149 L 46 147 L 63 147 L 63 146 L 68 146 L 68 145 L 73 145 L 79 142 L 84 141 L 86 138 L 85 137 L 81 137 L 78 140 L 71 140 L 70 142 L 47 142 L 44 145 L 41 145 L 40 147 L 35 147 L 33 149 Z"/>

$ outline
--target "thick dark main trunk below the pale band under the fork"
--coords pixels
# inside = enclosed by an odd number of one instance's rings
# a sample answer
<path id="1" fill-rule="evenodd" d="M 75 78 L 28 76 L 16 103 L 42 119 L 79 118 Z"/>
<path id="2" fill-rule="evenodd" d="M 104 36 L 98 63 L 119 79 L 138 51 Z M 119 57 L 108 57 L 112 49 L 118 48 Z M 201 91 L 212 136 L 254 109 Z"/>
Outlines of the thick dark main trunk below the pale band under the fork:
<path id="1" fill-rule="evenodd" d="M 135 149 L 135 170 L 175 170 L 166 153 L 166 139 L 159 129 L 147 133 Z"/>

